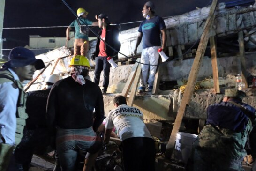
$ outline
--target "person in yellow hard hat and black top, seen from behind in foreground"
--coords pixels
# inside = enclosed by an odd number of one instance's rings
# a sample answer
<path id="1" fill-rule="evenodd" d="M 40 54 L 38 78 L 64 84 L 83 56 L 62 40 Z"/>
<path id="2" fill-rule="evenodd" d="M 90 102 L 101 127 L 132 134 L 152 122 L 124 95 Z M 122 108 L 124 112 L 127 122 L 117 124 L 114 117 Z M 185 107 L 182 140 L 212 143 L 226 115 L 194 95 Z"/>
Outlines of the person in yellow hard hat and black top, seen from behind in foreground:
<path id="1" fill-rule="evenodd" d="M 54 138 L 62 171 L 74 171 L 80 150 L 90 153 L 84 167 L 92 166 L 102 148 L 101 138 L 96 134 L 104 119 L 104 104 L 100 88 L 86 79 L 90 69 L 89 60 L 75 56 L 70 63 L 71 76 L 56 82 L 49 94 L 46 117 Z M 93 121 L 93 110 L 95 119 Z M 93 161 L 93 162 L 92 162 Z"/>

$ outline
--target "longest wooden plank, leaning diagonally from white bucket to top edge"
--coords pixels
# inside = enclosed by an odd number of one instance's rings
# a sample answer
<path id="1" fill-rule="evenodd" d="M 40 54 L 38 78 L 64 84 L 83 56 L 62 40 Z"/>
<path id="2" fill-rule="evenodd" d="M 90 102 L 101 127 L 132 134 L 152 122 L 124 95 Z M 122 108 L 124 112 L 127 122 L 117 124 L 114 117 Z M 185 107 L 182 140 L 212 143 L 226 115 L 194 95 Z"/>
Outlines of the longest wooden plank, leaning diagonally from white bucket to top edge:
<path id="1" fill-rule="evenodd" d="M 183 115 L 186 109 L 186 106 L 190 103 L 191 101 L 191 96 L 194 92 L 195 84 L 196 84 L 196 77 L 200 69 L 200 65 L 202 63 L 202 59 L 204 56 L 204 52 L 209 40 L 209 33 L 210 29 L 212 28 L 212 24 L 215 18 L 214 11 L 217 6 L 218 0 L 213 0 L 209 12 L 209 16 L 207 18 L 206 24 L 204 26 L 204 31 L 202 34 L 202 37 L 200 39 L 200 43 L 197 48 L 196 56 L 188 77 L 188 83 L 184 92 L 184 95 L 181 100 L 181 105 L 178 110 L 177 117 L 175 119 L 174 125 L 173 125 L 173 130 L 170 136 L 170 139 L 168 141 L 168 144 L 166 146 L 166 157 L 170 158 L 173 152 L 174 144 L 176 141 L 176 135 L 179 132 L 180 126 L 181 126 L 181 121 L 183 119 Z"/>

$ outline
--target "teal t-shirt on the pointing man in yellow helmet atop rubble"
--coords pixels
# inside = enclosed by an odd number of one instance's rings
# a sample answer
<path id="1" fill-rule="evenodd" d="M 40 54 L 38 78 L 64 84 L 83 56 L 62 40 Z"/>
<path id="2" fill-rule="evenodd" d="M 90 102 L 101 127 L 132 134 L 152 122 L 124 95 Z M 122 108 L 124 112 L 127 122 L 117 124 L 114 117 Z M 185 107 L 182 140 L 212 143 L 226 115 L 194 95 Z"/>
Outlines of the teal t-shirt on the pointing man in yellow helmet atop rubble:
<path id="1" fill-rule="evenodd" d="M 90 20 L 88 20 L 88 19 L 86 19 L 86 18 L 80 18 L 81 19 L 81 21 L 80 21 L 80 23 L 81 23 L 81 25 L 92 25 L 92 21 L 90 21 Z M 79 27 L 79 25 L 78 25 L 78 22 L 77 22 L 77 20 L 74 20 L 70 25 L 69 25 L 72 29 L 74 29 L 74 27 L 75 27 L 75 39 L 77 39 L 77 38 L 83 38 L 83 39 L 85 39 L 85 40 L 88 40 L 89 38 L 88 38 L 88 34 L 87 35 L 84 35 L 84 34 L 82 34 L 82 33 L 80 33 L 80 27 Z"/>

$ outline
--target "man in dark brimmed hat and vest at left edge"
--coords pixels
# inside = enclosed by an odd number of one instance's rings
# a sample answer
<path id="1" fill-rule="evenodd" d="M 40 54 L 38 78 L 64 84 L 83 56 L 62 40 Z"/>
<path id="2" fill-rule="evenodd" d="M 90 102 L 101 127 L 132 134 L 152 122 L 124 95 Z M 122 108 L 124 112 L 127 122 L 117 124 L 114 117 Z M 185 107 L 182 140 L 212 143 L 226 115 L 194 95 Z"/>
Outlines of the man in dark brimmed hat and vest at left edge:
<path id="1" fill-rule="evenodd" d="M 6 171 L 28 118 L 25 112 L 27 95 L 22 82 L 31 80 L 34 72 L 44 67 L 44 62 L 36 59 L 32 51 L 15 47 L 0 71 L 0 171 Z"/>

